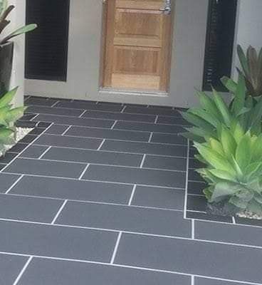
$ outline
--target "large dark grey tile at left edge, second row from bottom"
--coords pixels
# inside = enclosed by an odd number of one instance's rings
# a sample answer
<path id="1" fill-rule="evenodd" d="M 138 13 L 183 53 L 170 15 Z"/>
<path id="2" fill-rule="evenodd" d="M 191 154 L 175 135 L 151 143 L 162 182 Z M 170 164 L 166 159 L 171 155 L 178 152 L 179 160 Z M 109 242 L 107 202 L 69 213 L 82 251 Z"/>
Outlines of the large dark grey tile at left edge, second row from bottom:
<path id="1" fill-rule="evenodd" d="M 117 233 L 91 229 L 0 222 L 0 252 L 108 262 Z"/>

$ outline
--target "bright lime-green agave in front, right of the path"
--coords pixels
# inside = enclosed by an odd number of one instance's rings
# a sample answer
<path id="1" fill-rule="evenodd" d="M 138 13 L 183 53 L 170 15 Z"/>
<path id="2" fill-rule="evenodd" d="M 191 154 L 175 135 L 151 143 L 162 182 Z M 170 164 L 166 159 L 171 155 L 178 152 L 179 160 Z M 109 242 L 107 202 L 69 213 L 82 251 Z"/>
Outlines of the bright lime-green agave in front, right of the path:
<path id="1" fill-rule="evenodd" d="M 209 202 L 223 202 L 235 212 L 262 214 L 262 135 L 244 133 L 239 124 L 223 127 L 218 140 L 194 146 L 207 167 L 197 170 L 209 186 Z"/>

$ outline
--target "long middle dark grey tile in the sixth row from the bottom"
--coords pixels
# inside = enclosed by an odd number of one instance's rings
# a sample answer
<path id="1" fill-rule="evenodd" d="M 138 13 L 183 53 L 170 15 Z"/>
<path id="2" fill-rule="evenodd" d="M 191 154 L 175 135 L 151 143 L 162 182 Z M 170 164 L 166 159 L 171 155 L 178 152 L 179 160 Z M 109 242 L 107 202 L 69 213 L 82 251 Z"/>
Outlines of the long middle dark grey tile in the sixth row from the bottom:
<path id="1" fill-rule="evenodd" d="M 75 150 L 73 148 L 51 147 L 43 159 L 66 160 L 103 165 L 140 166 L 142 155 L 130 155 L 119 152 L 103 152 L 95 150 Z"/>

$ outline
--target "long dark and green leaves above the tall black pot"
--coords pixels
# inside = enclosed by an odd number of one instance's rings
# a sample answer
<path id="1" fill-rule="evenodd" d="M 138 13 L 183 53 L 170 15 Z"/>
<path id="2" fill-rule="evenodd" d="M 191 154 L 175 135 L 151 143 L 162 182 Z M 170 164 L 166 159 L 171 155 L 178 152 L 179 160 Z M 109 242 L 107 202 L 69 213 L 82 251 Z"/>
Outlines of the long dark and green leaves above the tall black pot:
<path id="1" fill-rule="evenodd" d="M 8 0 L 0 0 L 0 34 L 4 31 L 6 26 L 8 26 L 11 21 L 6 20 L 7 16 L 15 8 L 14 5 L 8 5 Z M 0 44 L 4 44 L 15 36 L 19 36 L 23 33 L 28 33 L 28 31 L 33 31 L 37 27 L 36 24 L 28 24 L 21 28 L 18 28 L 16 31 L 9 33 L 6 37 L 0 40 Z"/>

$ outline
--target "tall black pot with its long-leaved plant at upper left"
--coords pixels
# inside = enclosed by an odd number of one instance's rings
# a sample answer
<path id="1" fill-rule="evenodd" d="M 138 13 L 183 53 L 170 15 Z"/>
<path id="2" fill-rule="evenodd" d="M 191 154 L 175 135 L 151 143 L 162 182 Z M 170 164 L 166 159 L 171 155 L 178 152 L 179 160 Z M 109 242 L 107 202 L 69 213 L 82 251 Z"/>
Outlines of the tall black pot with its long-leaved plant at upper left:
<path id="1" fill-rule="evenodd" d="M 8 5 L 8 0 L 0 0 L 0 98 L 9 90 L 14 54 L 14 42 L 10 41 L 11 38 L 33 31 L 37 27 L 36 24 L 28 24 L 1 38 L 4 29 L 11 23 L 6 18 L 14 8 L 14 5 Z"/>

